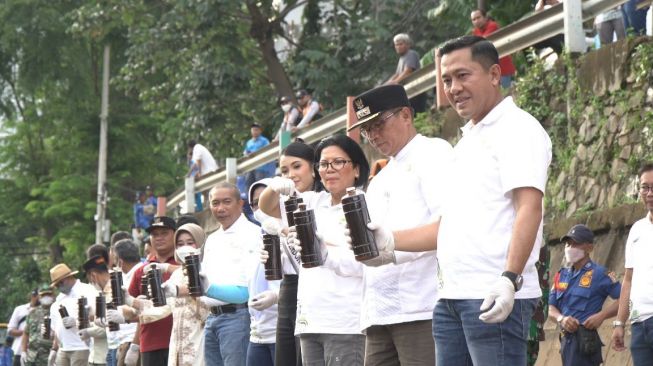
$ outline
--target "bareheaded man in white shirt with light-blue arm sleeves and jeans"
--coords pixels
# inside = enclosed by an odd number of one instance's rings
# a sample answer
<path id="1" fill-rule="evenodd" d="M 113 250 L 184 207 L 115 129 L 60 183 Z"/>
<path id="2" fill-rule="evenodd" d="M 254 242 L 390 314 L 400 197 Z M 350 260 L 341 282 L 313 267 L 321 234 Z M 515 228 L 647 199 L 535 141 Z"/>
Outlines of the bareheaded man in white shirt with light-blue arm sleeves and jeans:
<path id="1" fill-rule="evenodd" d="M 249 345 L 247 286 L 258 264 L 261 229 L 243 215 L 238 187 L 220 183 L 209 192 L 211 213 L 221 227 L 204 245 L 202 283 L 211 307 L 204 327 L 207 366 L 244 366 Z"/>

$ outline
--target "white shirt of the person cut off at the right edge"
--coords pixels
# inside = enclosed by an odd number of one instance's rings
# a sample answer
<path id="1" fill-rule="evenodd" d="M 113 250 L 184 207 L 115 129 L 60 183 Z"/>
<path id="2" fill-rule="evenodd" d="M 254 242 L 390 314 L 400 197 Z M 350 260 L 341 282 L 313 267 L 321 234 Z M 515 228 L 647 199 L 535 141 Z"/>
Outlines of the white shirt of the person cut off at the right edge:
<path id="1" fill-rule="evenodd" d="M 630 288 L 630 320 L 653 316 L 653 223 L 651 214 L 637 221 L 626 241 L 626 268 L 633 270 Z"/>

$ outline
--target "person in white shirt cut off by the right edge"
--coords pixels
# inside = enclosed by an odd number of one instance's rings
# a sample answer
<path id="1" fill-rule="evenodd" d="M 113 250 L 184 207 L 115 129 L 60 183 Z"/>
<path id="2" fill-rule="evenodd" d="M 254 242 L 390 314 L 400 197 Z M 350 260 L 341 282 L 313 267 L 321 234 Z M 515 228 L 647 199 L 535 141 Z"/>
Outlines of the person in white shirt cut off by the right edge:
<path id="1" fill-rule="evenodd" d="M 624 327 L 630 318 L 630 354 L 634 365 L 653 360 L 653 162 L 639 171 L 639 194 L 646 217 L 630 229 L 626 241 L 626 271 L 619 297 L 617 320 L 613 322 L 613 348 L 623 351 Z"/>

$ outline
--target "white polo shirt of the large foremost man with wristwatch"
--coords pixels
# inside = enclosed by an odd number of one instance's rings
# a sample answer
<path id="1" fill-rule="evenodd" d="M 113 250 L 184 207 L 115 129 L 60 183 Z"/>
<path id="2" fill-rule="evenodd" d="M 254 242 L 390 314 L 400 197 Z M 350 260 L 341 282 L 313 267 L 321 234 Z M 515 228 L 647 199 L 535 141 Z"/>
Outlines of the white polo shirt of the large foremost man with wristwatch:
<path id="1" fill-rule="evenodd" d="M 505 270 L 516 215 L 512 190 L 545 191 L 551 140 L 511 97 L 462 131 L 438 235 L 440 297 L 483 299 Z M 541 245 L 540 221 L 517 299 L 542 295 L 535 269 Z"/>

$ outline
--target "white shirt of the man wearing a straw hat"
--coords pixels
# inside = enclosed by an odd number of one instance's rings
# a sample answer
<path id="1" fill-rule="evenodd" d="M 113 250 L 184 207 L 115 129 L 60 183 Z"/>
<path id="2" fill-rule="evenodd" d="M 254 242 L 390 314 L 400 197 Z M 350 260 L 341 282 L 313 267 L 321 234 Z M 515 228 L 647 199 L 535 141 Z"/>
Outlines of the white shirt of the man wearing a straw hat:
<path id="1" fill-rule="evenodd" d="M 95 287 L 82 283 L 80 280 L 75 282 L 72 290 L 68 295 L 64 293 L 59 293 L 54 304 L 50 307 L 50 319 L 52 329 L 57 334 L 57 339 L 59 340 L 59 349 L 62 351 L 85 351 L 89 349 L 88 344 L 82 341 L 77 335 L 79 329 L 77 326 L 70 329 L 66 329 L 63 326 L 61 321 L 61 315 L 59 315 L 59 305 L 63 305 L 68 311 L 68 315 L 77 319 L 77 299 L 84 296 L 88 306 L 91 308 L 89 314 L 95 313 L 95 298 L 97 297 L 98 291 Z"/>

